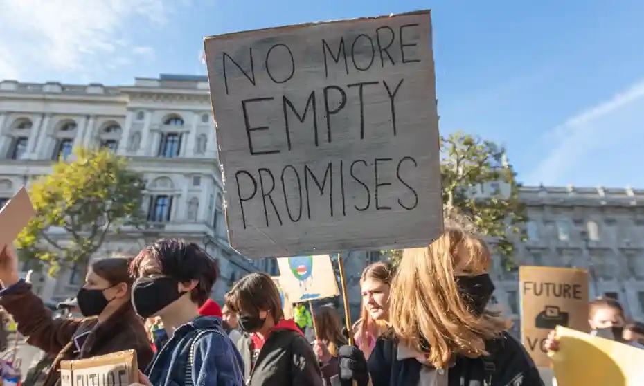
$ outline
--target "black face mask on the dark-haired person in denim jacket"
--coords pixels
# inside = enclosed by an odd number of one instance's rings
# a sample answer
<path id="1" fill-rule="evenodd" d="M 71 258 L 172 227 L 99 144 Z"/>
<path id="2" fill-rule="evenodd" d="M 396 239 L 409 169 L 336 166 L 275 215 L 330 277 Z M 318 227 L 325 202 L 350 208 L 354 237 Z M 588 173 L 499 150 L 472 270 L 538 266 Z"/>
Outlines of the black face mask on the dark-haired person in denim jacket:
<path id="1" fill-rule="evenodd" d="M 152 318 L 187 292 L 172 277 L 141 277 L 132 285 L 132 306 L 141 318 Z"/>

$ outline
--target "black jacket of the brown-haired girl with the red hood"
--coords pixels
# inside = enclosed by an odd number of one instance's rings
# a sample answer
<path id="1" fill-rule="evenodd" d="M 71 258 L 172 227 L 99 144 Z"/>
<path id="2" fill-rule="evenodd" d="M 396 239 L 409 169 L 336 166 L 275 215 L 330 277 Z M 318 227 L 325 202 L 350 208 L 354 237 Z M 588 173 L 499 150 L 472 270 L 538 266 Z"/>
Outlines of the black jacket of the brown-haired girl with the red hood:
<path id="1" fill-rule="evenodd" d="M 247 385 L 324 385 L 315 353 L 300 331 L 273 331 L 264 342 L 254 366 L 251 366 L 251 345 L 251 337 L 246 333 L 237 343 L 244 360 L 244 381 Z"/>

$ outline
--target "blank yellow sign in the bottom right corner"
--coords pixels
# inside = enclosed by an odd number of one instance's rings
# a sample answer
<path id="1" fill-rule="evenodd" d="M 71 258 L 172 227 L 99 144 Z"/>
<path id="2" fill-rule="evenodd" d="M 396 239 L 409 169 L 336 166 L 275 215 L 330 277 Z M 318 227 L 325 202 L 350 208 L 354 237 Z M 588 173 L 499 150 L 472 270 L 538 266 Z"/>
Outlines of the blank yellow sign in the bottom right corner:
<path id="1" fill-rule="evenodd" d="M 559 351 L 552 353 L 557 386 L 640 386 L 644 350 L 557 327 Z"/>

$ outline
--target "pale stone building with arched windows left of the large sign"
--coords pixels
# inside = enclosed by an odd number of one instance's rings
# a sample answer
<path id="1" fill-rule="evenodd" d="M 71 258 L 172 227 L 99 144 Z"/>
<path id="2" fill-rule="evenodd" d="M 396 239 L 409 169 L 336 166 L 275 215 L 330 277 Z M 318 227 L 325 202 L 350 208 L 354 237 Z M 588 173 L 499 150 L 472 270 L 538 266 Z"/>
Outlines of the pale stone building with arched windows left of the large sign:
<path id="1" fill-rule="evenodd" d="M 223 185 L 206 77 L 161 75 L 132 86 L 0 82 L 0 204 L 21 185 L 51 172 L 73 147 L 109 147 L 132 158 L 146 181 L 147 228 L 109 235 L 97 255 L 134 254 L 154 239 L 184 237 L 219 259 L 221 299 L 254 270 L 275 272 L 270 259 L 250 261 L 229 246 Z M 52 229 L 52 237 L 64 237 Z M 23 267 L 27 270 L 29 267 Z M 82 283 L 71 266 L 57 280 L 41 278 L 41 295 L 73 295 Z"/>

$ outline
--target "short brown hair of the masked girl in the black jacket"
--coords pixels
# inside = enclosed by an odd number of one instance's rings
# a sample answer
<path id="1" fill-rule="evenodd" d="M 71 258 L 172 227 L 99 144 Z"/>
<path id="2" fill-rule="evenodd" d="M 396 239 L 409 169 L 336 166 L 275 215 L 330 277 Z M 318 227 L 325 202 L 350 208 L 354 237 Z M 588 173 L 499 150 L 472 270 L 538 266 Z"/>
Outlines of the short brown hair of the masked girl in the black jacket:
<path id="1" fill-rule="evenodd" d="M 277 322 L 283 318 L 280 291 L 266 273 L 250 273 L 238 280 L 224 297 L 224 303 L 240 315 L 269 311 Z"/>

